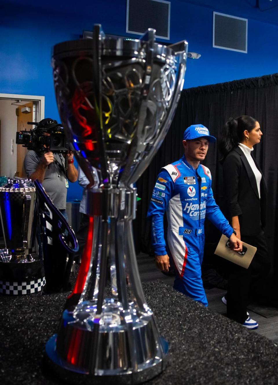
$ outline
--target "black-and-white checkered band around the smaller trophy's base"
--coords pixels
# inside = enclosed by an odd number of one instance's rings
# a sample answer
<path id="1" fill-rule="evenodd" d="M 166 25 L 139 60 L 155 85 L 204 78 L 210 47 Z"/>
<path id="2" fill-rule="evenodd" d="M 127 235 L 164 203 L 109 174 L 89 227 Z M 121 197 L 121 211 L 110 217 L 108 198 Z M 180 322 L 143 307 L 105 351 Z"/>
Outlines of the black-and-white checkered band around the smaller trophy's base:
<path id="1" fill-rule="evenodd" d="M 33 294 L 41 291 L 44 285 L 45 277 L 25 282 L 0 281 L 0 293 L 10 295 Z"/>

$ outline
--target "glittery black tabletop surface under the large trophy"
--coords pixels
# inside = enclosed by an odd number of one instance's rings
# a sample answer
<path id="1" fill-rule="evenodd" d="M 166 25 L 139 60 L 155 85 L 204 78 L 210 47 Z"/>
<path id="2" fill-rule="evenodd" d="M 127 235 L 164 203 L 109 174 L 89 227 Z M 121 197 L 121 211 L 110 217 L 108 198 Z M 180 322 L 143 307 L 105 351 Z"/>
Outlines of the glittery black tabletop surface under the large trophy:
<path id="1" fill-rule="evenodd" d="M 160 280 L 143 282 L 143 289 L 160 334 L 170 343 L 165 372 L 148 384 L 278 383 L 278 349 L 273 342 Z M 41 363 L 67 294 L 0 296 L 2 385 L 62 384 L 49 371 L 42 372 Z"/>

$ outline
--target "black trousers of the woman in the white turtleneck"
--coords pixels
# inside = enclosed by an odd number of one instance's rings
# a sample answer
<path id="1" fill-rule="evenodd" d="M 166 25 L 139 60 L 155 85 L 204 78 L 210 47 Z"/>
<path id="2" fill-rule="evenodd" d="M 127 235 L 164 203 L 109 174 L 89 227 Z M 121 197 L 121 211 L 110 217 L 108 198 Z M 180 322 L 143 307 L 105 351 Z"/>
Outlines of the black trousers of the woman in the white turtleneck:
<path id="1" fill-rule="evenodd" d="M 271 267 L 263 230 L 257 236 L 243 235 L 241 240 L 255 246 L 257 251 L 248 269 L 234 263 L 228 265 L 227 316 L 239 323 L 246 320 L 246 308 L 250 295 L 253 290 L 258 291 L 260 287 L 263 289 L 263 279 Z"/>

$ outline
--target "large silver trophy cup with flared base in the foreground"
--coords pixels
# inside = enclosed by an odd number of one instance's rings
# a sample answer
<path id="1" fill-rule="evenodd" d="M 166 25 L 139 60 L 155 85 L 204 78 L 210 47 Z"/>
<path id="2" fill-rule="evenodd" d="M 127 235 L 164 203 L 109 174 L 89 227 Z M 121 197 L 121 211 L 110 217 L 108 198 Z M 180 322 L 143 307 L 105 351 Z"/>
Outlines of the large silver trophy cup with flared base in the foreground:
<path id="1" fill-rule="evenodd" d="M 57 105 L 78 163 L 98 188 L 88 191 L 88 240 L 76 287 L 57 335 L 46 345 L 52 368 L 69 382 L 146 381 L 163 370 L 158 335 L 133 244 L 136 189 L 172 121 L 183 85 L 187 42 L 155 43 L 104 35 L 57 44 Z M 69 306 L 71 305 L 71 306 Z"/>

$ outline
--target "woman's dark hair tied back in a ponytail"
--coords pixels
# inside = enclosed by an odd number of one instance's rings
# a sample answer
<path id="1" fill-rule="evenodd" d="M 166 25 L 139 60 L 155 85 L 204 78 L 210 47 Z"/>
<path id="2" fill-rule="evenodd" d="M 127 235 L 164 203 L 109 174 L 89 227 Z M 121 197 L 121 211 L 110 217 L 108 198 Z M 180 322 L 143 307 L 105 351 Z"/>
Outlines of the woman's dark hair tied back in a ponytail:
<path id="1" fill-rule="evenodd" d="M 248 115 L 239 116 L 234 119 L 231 117 L 224 125 L 222 135 L 219 141 L 219 151 L 221 153 L 220 161 L 224 161 L 231 150 L 238 146 L 243 139 L 243 132 L 252 131 L 256 126 L 256 119 Z"/>

